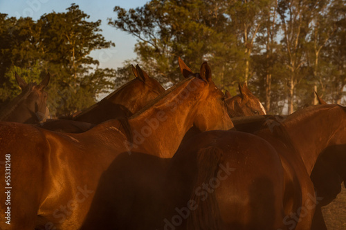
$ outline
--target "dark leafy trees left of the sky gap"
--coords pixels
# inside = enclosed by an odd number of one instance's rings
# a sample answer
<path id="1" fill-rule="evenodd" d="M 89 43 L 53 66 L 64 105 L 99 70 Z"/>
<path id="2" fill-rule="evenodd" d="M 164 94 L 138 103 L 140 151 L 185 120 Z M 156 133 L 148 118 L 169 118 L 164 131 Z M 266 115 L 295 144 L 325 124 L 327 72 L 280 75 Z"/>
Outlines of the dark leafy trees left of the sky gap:
<path id="1" fill-rule="evenodd" d="M 0 14 L 0 106 L 21 92 L 15 72 L 26 82 L 41 82 L 51 73 L 48 107 L 57 116 L 86 108 L 113 88 L 115 70 L 98 68 L 89 55 L 115 45 L 100 34 L 100 20 L 88 19 L 75 4 L 37 21 Z"/>

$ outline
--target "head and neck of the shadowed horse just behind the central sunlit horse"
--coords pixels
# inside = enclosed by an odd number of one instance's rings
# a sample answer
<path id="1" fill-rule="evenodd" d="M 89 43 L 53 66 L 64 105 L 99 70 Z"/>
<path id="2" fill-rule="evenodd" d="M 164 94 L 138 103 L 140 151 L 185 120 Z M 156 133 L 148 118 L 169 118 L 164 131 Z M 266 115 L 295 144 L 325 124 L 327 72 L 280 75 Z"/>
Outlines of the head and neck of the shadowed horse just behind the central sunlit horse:
<path id="1" fill-rule="evenodd" d="M 138 65 L 131 66 L 135 79 L 121 86 L 86 111 L 73 117 L 75 121 L 100 124 L 115 117 L 130 117 L 165 89 Z"/>

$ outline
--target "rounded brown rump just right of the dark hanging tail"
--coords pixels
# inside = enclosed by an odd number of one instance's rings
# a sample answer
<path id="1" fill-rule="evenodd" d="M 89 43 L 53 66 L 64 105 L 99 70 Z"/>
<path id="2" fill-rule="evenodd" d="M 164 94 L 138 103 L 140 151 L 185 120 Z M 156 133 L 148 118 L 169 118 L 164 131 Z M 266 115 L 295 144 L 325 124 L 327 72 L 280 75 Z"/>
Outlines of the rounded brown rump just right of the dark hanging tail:
<path id="1" fill-rule="evenodd" d="M 248 133 L 229 132 L 226 140 L 216 174 L 221 183 L 215 188 L 226 229 L 281 228 L 284 169 L 275 148 Z"/>

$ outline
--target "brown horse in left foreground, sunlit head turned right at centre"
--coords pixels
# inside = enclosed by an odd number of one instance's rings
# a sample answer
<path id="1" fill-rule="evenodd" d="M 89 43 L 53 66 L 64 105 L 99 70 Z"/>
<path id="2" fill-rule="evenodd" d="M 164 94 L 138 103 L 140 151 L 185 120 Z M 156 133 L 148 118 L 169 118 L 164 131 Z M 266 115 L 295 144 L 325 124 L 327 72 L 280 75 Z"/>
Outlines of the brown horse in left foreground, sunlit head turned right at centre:
<path id="1" fill-rule="evenodd" d="M 203 131 L 232 127 L 224 94 L 212 82 L 206 63 L 202 64 L 199 77 L 185 79 L 129 118 L 133 143 L 129 143 L 116 120 L 80 134 L 1 123 L 0 154 L 10 161 L 11 175 L 6 184 L 10 198 L 5 191 L 0 195 L 0 218 L 8 218 L 8 209 L 13 215 L 9 214 L 10 225 L 0 222 L 0 228 L 78 229 L 89 211 L 102 172 L 119 153 L 138 151 L 172 157 L 193 124 Z M 167 131 L 170 135 L 165 135 Z M 5 176 L 2 170 L 0 180 L 5 181 Z"/>

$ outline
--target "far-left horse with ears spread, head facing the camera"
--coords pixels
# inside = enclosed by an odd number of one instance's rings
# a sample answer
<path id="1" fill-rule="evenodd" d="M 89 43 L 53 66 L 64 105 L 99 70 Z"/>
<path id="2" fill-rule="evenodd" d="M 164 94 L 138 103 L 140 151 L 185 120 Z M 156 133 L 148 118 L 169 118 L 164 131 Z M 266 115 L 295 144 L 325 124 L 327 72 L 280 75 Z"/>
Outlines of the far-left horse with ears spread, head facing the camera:
<path id="1" fill-rule="evenodd" d="M 39 85 L 27 84 L 17 73 L 15 73 L 15 79 L 21 88 L 21 94 L 1 108 L 0 121 L 27 124 L 45 122 L 49 116 L 49 110 L 46 104 L 48 94 L 44 89 L 49 83 L 49 73 Z"/>

